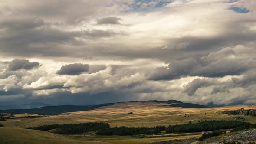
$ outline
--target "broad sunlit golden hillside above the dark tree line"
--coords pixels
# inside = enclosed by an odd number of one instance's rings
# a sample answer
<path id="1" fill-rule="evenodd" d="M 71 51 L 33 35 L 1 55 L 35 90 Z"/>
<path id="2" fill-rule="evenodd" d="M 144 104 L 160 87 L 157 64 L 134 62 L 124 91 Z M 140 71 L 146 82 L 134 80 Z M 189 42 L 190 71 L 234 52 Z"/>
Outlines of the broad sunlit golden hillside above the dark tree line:
<path id="1" fill-rule="evenodd" d="M 4 127 L 27 128 L 46 124 L 68 124 L 107 122 L 110 126 L 152 127 L 184 124 L 198 120 L 234 120 L 234 115 L 220 114 L 224 110 L 239 108 L 256 109 L 256 105 L 239 105 L 218 108 L 174 108 L 168 104 L 154 102 L 117 103 L 92 111 L 69 112 L 42 118 L 21 118 L 0 121 Z M 132 115 L 127 113 L 132 111 Z M 245 121 L 255 124 L 256 118 L 243 116 Z"/>

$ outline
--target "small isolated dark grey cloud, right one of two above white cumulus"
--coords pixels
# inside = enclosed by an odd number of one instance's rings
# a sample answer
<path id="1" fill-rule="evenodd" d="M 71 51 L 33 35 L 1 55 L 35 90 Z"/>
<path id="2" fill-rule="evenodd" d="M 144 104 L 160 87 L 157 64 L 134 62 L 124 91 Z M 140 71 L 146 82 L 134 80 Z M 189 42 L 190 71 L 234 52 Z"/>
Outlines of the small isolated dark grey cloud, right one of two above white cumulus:
<path id="1" fill-rule="evenodd" d="M 83 72 L 89 71 L 88 64 L 74 63 L 69 65 L 64 65 L 56 72 L 58 75 L 79 75 Z"/>

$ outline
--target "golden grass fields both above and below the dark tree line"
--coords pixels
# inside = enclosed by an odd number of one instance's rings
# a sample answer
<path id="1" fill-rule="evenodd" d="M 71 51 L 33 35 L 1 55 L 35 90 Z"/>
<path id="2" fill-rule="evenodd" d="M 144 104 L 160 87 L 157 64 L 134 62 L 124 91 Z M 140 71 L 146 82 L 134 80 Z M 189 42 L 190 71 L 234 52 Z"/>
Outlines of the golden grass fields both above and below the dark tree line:
<path id="1" fill-rule="evenodd" d="M 63 113 L 61 115 L 48 115 L 41 118 L 20 118 L 0 121 L 4 128 L 0 128 L 0 142 L 12 141 L 18 139 L 19 143 L 40 144 L 39 142 L 47 141 L 50 143 L 85 143 L 98 144 L 90 141 L 102 141 L 111 144 L 147 144 L 154 141 L 174 140 L 174 139 L 190 139 L 198 138 L 200 134 L 186 136 L 171 137 L 154 137 L 154 138 L 134 138 L 120 136 L 93 136 L 81 137 L 72 135 L 59 135 L 43 131 L 34 131 L 21 129 L 27 127 L 36 127 L 46 124 L 68 124 L 68 123 L 86 123 L 86 122 L 106 122 L 110 126 L 131 126 L 131 127 L 153 127 L 160 125 L 184 124 L 189 121 L 198 120 L 234 120 L 235 115 L 221 114 L 224 110 L 236 110 L 240 108 L 256 109 L 256 105 L 239 105 L 218 108 L 173 108 L 168 107 L 164 103 L 154 102 L 128 102 L 117 103 L 111 106 L 96 108 L 92 111 L 78 111 Z M 128 115 L 128 112 L 133 114 Z M 27 116 L 31 114 L 19 114 L 16 116 Z M 256 123 L 256 118 L 251 116 L 243 116 L 245 121 Z M 10 128 L 7 128 L 10 127 Z M 7 139 L 3 138 L 7 137 Z M 38 142 L 38 143 L 37 143 Z M 101 144 L 101 143 L 99 143 Z"/>

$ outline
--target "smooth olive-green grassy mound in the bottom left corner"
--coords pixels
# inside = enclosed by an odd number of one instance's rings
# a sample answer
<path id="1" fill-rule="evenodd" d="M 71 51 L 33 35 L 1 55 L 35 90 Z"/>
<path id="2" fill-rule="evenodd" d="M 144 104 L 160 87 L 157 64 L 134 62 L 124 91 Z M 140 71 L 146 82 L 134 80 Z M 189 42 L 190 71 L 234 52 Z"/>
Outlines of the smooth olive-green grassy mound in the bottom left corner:
<path id="1" fill-rule="evenodd" d="M 21 128 L 0 128 L 0 144 L 108 144 L 74 140 L 59 134 Z"/>

